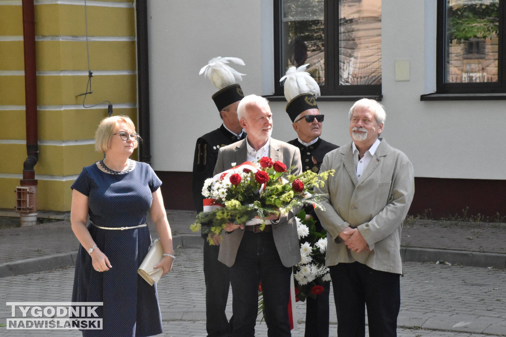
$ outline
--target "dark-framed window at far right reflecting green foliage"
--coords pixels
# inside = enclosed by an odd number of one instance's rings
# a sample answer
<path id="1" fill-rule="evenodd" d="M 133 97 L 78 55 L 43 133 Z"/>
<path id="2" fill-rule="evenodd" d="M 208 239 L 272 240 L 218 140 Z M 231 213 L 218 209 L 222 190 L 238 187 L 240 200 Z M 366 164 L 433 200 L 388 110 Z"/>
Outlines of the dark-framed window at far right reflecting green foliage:
<path id="1" fill-rule="evenodd" d="M 506 93 L 505 17 L 504 0 L 438 0 L 438 94 L 469 100 Z"/>

